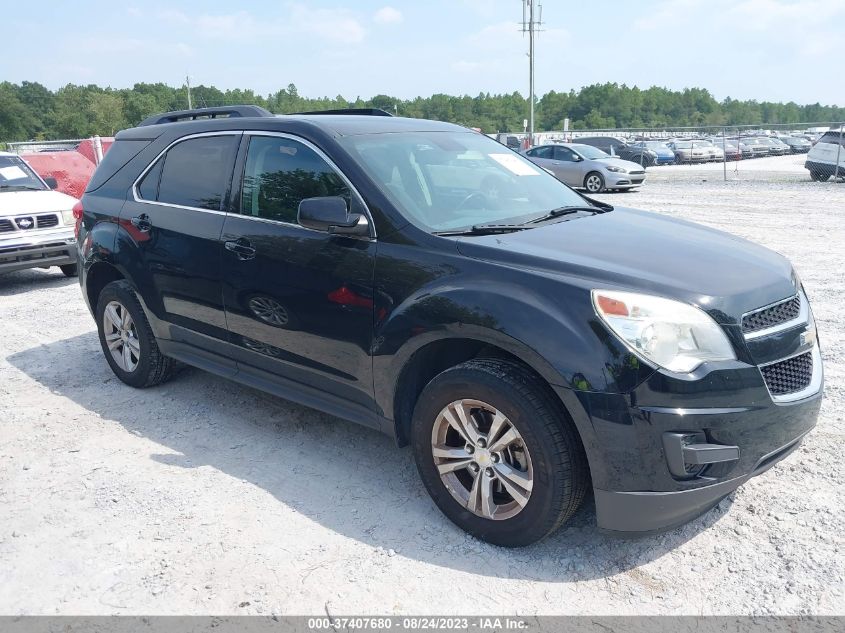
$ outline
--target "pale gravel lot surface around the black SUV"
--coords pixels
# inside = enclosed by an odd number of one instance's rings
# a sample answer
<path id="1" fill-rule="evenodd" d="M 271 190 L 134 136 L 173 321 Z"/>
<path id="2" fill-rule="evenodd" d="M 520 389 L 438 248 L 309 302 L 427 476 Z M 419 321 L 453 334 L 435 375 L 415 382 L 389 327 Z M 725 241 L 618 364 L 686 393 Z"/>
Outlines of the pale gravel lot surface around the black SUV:
<path id="1" fill-rule="evenodd" d="M 587 503 L 538 545 L 483 544 L 389 438 L 196 370 L 133 390 L 76 280 L 0 277 L 0 613 L 845 612 L 845 184 L 802 163 L 749 161 L 727 183 L 721 165 L 655 168 L 603 196 L 788 256 L 827 372 L 798 452 L 636 541 L 598 534 Z"/>

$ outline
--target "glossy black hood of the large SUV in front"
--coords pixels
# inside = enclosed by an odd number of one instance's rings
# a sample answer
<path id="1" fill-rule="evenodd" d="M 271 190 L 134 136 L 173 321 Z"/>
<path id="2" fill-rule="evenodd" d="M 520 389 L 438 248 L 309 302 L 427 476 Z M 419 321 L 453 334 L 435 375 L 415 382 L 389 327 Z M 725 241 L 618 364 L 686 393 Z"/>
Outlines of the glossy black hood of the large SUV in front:
<path id="1" fill-rule="evenodd" d="M 720 323 L 795 294 L 783 256 L 728 233 L 619 209 L 499 235 L 462 237 L 467 257 L 561 275 L 585 288 L 692 303 Z"/>

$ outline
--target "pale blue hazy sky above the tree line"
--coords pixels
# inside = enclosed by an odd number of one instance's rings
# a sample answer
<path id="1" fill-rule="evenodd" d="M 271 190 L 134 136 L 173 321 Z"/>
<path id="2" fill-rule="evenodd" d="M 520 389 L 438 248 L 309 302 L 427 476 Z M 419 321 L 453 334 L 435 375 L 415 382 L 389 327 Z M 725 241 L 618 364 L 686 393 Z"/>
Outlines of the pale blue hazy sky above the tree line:
<path id="1" fill-rule="evenodd" d="M 845 0 L 545 0 L 536 93 L 613 81 L 845 105 Z M 520 0 L 4 2 L 0 81 L 528 94 Z M 838 58 L 838 59 L 835 59 Z"/>

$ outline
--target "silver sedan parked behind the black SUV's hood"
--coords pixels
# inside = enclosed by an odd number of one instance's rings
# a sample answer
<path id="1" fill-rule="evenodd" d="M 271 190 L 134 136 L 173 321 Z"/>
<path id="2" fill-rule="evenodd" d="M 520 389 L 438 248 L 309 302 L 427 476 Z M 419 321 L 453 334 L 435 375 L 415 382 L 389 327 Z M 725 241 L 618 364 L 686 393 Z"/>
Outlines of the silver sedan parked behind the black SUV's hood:
<path id="1" fill-rule="evenodd" d="M 642 166 L 610 156 L 591 145 L 538 145 L 522 153 L 561 182 L 573 188 L 586 189 L 589 193 L 631 189 L 645 181 L 645 169 Z"/>

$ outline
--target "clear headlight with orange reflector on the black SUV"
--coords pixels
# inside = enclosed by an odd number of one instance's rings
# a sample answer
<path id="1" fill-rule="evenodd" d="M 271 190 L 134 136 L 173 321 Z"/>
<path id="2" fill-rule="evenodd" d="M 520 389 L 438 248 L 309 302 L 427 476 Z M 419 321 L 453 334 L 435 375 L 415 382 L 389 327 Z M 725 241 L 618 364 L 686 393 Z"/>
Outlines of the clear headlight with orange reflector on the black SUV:
<path id="1" fill-rule="evenodd" d="M 735 360 L 724 331 L 688 303 L 615 290 L 593 290 L 602 321 L 642 359 L 688 373 L 708 360 Z"/>

